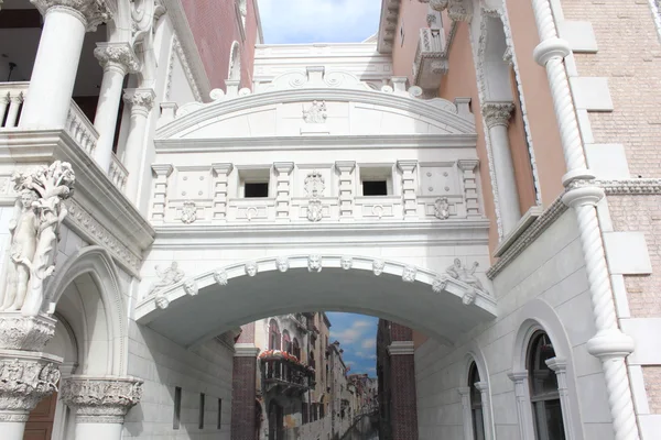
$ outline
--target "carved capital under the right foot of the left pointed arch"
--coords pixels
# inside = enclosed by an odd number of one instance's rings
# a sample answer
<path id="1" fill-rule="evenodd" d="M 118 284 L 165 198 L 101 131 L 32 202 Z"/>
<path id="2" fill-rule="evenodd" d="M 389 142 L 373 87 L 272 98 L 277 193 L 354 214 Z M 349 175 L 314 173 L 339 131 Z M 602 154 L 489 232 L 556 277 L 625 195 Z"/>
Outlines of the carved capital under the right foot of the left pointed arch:
<path id="1" fill-rule="evenodd" d="M 142 398 L 142 381 L 134 377 L 72 376 L 64 381 L 61 396 L 76 409 L 83 424 L 123 424 L 123 418 Z"/>

